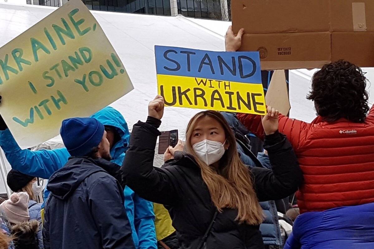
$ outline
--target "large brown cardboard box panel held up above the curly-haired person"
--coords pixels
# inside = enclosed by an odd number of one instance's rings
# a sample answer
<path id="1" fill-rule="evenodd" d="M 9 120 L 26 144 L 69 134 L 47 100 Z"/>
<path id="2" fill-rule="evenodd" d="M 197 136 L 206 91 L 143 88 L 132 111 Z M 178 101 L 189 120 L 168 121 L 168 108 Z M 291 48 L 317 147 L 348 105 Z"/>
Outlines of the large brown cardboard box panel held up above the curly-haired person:
<path id="1" fill-rule="evenodd" d="M 241 51 L 260 51 L 261 68 L 321 68 L 345 59 L 374 66 L 373 0 L 234 0 Z"/>

